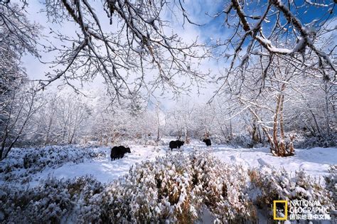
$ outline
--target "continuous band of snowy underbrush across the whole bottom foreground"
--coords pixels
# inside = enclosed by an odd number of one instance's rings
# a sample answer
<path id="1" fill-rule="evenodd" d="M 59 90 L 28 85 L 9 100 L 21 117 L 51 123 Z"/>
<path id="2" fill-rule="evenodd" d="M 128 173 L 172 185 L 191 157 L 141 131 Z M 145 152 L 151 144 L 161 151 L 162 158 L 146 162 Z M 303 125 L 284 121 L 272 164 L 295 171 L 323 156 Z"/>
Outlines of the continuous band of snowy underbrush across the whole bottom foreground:
<path id="1" fill-rule="evenodd" d="M 335 167 L 336 168 L 336 167 Z M 0 186 L 4 223 L 195 223 L 208 210 L 215 223 L 257 223 L 272 219 L 274 200 L 318 200 L 333 212 L 336 169 L 326 188 L 297 172 L 247 169 L 208 153 L 168 154 L 132 166 L 129 174 L 103 185 L 85 176 L 49 178 L 23 189 Z M 331 191 L 332 190 L 332 191 Z"/>

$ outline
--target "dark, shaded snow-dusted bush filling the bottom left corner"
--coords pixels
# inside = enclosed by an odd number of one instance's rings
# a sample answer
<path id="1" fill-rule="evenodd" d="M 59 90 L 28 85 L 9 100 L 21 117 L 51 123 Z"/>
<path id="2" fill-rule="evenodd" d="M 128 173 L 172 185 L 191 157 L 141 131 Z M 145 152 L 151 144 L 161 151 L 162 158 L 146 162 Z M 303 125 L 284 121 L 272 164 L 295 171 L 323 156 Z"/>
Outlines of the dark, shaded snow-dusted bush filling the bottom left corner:
<path id="1" fill-rule="evenodd" d="M 102 183 L 90 176 L 67 181 L 48 178 L 40 186 L 29 189 L 6 184 L 0 186 L 0 221 L 65 223 L 75 217 L 76 220 L 100 222 L 95 215 L 97 207 L 88 209 L 87 205 L 103 189 Z"/>

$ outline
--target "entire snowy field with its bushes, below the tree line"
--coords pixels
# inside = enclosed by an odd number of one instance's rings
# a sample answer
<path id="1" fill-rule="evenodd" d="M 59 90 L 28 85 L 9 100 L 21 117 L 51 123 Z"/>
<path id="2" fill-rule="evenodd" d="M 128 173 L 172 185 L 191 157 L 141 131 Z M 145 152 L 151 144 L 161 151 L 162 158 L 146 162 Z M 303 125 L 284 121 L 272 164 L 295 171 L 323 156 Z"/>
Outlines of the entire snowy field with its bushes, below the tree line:
<path id="1" fill-rule="evenodd" d="M 3 203 L 0 203 L 0 223 L 18 220 L 105 223 L 105 219 L 119 223 L 124 220 L 119 213 L 125 217 L 135 214 L 132 220 L 143 220 L 142 206 L 155 211 L 146 213 L 145 220 L 164 218 L 175 223 L 179 217 L 184 220 L 179 216 L 183 213 L 177 209 L 186 209 L 196 223 L 213 223 L 242 214 L 248 215 L 242 216 L 248 220 L 267 223 L 271 210 L 266 205 L 270 200 L 303 196 L 322 201 L 325 208 L 333 210 L 331 214 L 335 213 L 327 193 L 331 190 L 326 189 L 334 184 L 328 169 L 336 165 L 336 148 L 296 149 L 295 156 L 281 158 L 272 156 L 268 148 L 207 147 L 193 140 L 171 151 L 168 144 L 169 139 L 161 141 L 159 146 L 125 143 L 132 153 L 114 161 L 107 146 L 14 149 L 0 163 L 0 202 Z M 285 169 L 290 175 L 268 167 Z M 299 170 L 304 171 L 304 176 L 295 173 Z M 322 187 L 308 176 L 314 176 Z M 326 179 L 330 182 L 325 182 L 323 176 L 329 176 Z M 188 198 L 198 197 L 188 203 Z M 208 203 L 210 200 L 217 203 Z M 242 210 L 237 211 L 235 206 Z"/>

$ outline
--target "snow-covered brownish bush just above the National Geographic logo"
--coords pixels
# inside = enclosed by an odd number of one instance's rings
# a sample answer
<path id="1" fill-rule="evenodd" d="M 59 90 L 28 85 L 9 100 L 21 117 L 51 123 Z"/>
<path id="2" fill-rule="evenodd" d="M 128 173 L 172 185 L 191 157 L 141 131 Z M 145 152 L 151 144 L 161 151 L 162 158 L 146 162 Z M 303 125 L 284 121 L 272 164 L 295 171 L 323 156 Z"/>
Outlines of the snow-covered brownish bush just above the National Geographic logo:
<path id="1" fill-rule="evenodd" d="M 263 167 L 261 170 L 248 171 L 251 181 L 252 200 L 269 215 L 270 205 L 274 200 L 319 201 L 322 207 L 334 210 L 333 198 L 319 181 L 311 178 L 304 171 L 296 171 L 294 176 L 285 171 L 276 171 Z M 269 218 L 272 216 L 269 216 Z"/>

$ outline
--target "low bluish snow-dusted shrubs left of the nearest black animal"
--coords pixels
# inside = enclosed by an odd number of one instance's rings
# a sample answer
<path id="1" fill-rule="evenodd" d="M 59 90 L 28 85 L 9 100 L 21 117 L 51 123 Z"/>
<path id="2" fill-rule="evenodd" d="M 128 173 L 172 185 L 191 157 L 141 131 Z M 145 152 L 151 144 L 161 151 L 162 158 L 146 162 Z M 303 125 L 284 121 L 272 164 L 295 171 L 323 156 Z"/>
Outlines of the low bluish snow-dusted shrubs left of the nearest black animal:
<path id="1" fill-rule="evenodd" d="M 43 148 L 12 149 L 0 162 L 0 178 L 5 181 L 21 181 L 46 167 L 61 166 L 66 162 L 80 163 L 85 159 L 104 159 L 105 149 L 81 148 L 80 146 L 46 146 Z"/>

